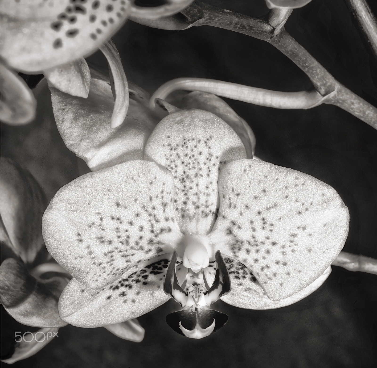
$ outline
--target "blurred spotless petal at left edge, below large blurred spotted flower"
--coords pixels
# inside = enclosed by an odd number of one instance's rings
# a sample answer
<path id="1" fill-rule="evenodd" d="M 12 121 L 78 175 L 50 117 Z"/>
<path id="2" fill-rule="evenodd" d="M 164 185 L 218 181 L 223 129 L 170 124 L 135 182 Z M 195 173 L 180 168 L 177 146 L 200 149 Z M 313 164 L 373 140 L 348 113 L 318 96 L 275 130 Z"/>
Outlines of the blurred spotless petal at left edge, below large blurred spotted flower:
<path id="1" fill-rule="evenodd" d="M 35 117 L 37 102 L 25 81 L 0 63 L 0 117 L 10 125 L 23 125 Z"/>

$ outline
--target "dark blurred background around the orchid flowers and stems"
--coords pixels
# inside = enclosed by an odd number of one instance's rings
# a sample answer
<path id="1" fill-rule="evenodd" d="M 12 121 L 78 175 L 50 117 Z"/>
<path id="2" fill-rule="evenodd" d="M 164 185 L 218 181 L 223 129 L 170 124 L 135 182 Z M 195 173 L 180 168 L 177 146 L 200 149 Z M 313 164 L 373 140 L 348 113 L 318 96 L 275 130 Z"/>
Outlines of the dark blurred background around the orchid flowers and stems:
<path id="1" fill-rule="evenodd" d="M 262 0 L 206 1 L 248 15 L 264 15 Z M 369 2 L 374 14 L 377 3 Z M 296 9 L 288 32 L 331 74 L 377 106 L 377 61 L 343 0 L 313 0 Z M 127 78 L 149 93 L 176 77 L 204 77 L 279 91 L 311 88 L 308 77 L 267 42 L 214 27 L 164 31 L 131 21 L 113 37 Z M 89 60 L 106 66 L 98 52 Z M 38 77 L 25 76 L 30 85 Z M 333 186 L 351 214 L 345 251 L 377 258 L 377 131 L 332 105 L 279 110 L 227 100 L 252 127 L 256 156 L 313 175 Z M 38 114 L 50 114 L 40 103 Z M 46 112 L 47 111 L 47 112 Z M 38 115 L 39 116 L 39 115 Z M 2 125 L 2 156 L 23 163 L 51 199 L 85 167 L 62 144 L 47 118 L 14 128 Z M 133 343 L 104 328 L 66 326 L 40 353 L 14 367 L 375 367 L 377 276 L 333 267 L 328 280 L 302 301 L 253 311 L 219 301 L 229 322 L 202 340 L 173 332 L 170 300 L 141 316 L 144 341 Z M 2 317 L 2 355 L 14 331 L 35 331 Z M 6 364 L 2 364 L 6 366 Z"/>

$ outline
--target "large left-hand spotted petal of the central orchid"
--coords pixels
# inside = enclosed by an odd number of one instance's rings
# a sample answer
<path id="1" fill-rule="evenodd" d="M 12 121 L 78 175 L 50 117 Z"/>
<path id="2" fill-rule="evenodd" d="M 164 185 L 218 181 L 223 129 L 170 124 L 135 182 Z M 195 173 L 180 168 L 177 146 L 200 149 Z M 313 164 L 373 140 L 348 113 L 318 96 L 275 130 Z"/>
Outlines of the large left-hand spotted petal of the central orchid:
<path id="1" fill-rule="evenodd" d="M 44 212 L 48 251 L 78 281 L 101 288 L 135 263 L 174 249 L 181 232 L 172 189 L 169 171 L 142 160 L 78 177 Z"/>

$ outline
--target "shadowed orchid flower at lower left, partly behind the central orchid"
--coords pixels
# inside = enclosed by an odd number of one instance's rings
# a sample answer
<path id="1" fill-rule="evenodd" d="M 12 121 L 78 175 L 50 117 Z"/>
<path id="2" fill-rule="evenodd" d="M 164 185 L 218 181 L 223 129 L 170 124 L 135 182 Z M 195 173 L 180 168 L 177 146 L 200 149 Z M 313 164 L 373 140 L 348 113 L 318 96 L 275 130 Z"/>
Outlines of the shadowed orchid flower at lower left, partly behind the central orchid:
<path id="1" fill-rule="evenodd" d="M 10 159 L 2 158 L 1 167 L 1 303 L 18 322 L 41 327 L 41 333 L 55 337 L 59 328 L 67 325 L 59 317 L 58 299 L 71 276 L 51 260 L 44 246 L 41 219 L 46 200 L 39 184 L 30 172 Z M 144 329 L 136 319 L 104 327 L 127 340 L 139 342 L 144 337 Z M 3 361 L 25 359 L 51 340 L 21 340 L 12 356 Z"/>

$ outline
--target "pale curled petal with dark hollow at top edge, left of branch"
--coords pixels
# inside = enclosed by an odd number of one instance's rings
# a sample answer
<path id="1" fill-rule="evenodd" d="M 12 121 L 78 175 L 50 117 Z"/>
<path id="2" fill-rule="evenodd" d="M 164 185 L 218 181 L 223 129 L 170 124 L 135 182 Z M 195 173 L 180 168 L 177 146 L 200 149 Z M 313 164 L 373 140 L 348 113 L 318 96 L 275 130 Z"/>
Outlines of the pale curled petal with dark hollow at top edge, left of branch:
<path id="1" fill-rule="evenodd" d="M 153 3 L 131 0 L 129 14 L 131 17 L 157 19 L 168 17 L 187 8 L 194 0 L 161 0 Z M 145 5 L 144 5 L 145 4 Z"/>

